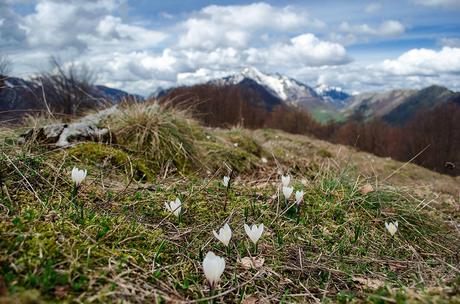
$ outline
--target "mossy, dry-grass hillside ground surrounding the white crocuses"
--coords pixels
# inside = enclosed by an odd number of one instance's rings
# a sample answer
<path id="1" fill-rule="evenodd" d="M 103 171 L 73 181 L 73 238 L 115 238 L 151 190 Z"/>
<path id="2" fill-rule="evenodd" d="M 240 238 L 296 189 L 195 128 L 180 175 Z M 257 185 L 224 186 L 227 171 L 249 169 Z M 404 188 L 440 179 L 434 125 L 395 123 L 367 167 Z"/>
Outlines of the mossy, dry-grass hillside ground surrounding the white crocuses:
<path id="1" fill-rule="evenodd" d="M 460 235 L 451 215 L 458 197 L 430 202 L 412 187 L 363 177 L 359 165 L 340 163 L 333 149 L 306 137 L 203 134 L 200 159 L 187 172 L 150 167 L 123 147 L 28 150 L 4 141 L 0 303 L 460 301 Z M 70 201 L 73 166 L 89 174 L 78 194 L 83 220 Z M 221 178 L 229 168 L 227 193 Z M 280 172 L 305 192 L 299 217 L 279 193 Z M 375 191 L 363 194 L 369 183 Z M 180 222 L 164 209 L 176 197 Z M 391 237 L 384 222 L 395 220 Z M 226 222 L 230 252 L 212 235 Z M 266 226 L 257 253 L 244 223 Z M 209 250 L 227 265 L 212 300 L 201 268 Z M 243 265 L 248 256 L 263 265 Z"/>

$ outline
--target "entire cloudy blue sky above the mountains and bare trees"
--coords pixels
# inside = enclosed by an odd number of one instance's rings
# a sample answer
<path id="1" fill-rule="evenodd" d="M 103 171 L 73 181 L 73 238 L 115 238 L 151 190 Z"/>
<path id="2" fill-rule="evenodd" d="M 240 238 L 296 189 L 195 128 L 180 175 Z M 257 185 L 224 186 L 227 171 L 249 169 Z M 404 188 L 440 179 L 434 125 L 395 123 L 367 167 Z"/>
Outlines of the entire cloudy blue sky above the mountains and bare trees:
<path id="1" fill-rule="evenodd" d="M 148 95 L 254 66 L 350 92 L 460 90 L 460 0 L 0 0 L 13 74 L 49 56 Z"/>

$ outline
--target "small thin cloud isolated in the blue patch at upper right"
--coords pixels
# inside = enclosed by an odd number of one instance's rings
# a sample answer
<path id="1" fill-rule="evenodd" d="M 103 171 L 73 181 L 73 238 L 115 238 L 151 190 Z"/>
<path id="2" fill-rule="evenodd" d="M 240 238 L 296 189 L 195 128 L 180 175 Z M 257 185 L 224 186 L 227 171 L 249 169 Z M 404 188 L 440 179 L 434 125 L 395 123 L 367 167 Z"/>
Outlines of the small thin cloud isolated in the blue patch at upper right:
<path id="1" fill-rule="evenodd" d="M 405 31 L 404 25 L 396 20 L 386 20 L 378 27 L 372 27 L 368 24 L 350 24 L 342 22 L 339 30 L 353 35 L 367 35 L 367 36 L 397 36 Z"/>

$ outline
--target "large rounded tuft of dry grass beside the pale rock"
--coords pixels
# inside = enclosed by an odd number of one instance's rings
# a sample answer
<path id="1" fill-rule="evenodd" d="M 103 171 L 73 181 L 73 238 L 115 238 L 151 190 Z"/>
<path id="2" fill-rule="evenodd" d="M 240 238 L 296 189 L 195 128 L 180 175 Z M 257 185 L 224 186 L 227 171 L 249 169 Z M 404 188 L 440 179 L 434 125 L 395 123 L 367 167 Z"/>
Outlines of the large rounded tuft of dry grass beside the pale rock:
<path id="1" fill-rule="evenodd" d="M 190 169 L 197 160 L 194 141 L 202 129 L 184 111 L 152 102 L 120 108 L 107 122 L 120 146 L 141 155 L 156 169 Z"/>

